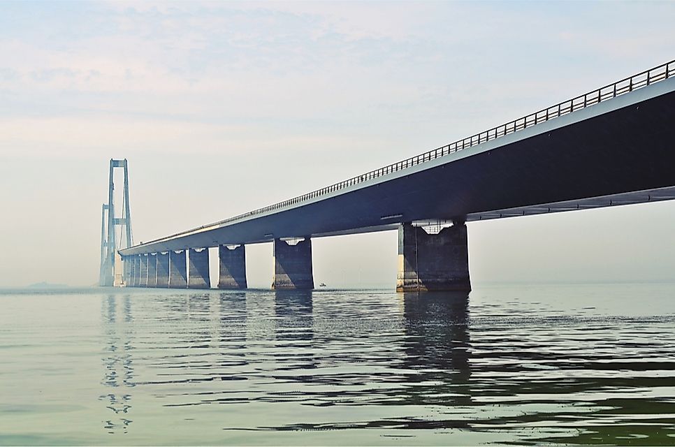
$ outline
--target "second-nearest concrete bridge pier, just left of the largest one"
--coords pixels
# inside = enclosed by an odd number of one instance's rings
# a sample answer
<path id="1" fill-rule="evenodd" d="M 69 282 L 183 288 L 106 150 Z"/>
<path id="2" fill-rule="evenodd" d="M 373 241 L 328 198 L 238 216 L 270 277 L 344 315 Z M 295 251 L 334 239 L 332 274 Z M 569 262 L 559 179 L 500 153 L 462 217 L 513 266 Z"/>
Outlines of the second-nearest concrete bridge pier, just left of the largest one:
<path id="1" fill-rule="evenodd" d="M 274 279 L 273 289 L 312 289 L 312 240 L 305 240 L 295 245 L 274 240 Z"/>

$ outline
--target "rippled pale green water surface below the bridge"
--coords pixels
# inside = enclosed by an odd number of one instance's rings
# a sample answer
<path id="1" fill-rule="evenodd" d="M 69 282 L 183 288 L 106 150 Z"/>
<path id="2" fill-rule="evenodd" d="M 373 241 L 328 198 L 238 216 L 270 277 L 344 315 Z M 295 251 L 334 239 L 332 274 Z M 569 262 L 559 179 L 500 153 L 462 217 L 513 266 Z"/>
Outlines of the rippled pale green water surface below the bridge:
<path id="1" fill-rule="evenodd" d="M 0 309 L 0 444 L 675 444 L 674 284 Z"/>

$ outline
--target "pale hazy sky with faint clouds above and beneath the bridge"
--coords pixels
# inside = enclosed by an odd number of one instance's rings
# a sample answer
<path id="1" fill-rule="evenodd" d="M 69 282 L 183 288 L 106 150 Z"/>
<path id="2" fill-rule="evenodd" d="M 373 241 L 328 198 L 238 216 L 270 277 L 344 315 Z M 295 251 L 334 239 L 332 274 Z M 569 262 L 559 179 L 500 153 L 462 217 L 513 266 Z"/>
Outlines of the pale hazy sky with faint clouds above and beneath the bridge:
<path id="1" fill-rule="evenodd" d="M 98 281 L 110 158 L 151 240 L 674 59 L 674 22 L 672 1 L 1 1 L 0 287 Z M 469 223 L 472 281 L 671 281 L 674 221 L 667 202 Z M 395 286 L 396 238 L 313 240 L 315 281 Z M 271 244 L 247 258 L 269 287 Z"/>

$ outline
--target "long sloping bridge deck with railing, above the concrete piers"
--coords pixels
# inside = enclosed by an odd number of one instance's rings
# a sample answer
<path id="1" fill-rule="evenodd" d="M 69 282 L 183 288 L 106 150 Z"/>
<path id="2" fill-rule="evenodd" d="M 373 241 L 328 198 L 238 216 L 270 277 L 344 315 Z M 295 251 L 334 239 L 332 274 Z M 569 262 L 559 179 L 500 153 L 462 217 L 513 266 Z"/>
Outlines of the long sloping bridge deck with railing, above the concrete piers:
<path id="1" fill-rule="evenodd" d="M 339 184 L 123 256 L 675 198 L 675 63 Z"/>

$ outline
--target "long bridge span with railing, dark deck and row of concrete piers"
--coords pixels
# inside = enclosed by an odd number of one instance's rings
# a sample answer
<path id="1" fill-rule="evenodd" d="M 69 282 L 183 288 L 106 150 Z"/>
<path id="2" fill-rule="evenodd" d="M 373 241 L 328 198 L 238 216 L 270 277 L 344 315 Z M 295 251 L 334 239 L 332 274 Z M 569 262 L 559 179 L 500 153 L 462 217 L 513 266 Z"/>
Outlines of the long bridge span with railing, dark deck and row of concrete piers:
<path id="1" fill-rule="evenodd" d="M 314 288 L 312 238 L 398 230 L 398 291 L 470 290 L 467 222 L 675 198 L 675 61 L 488 131 L 229 219 L 119 250 L 134 287 Z M 114 263 L 111 263 L 114 264 Z"/>

